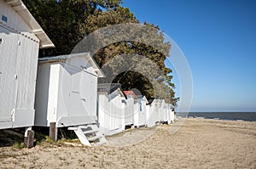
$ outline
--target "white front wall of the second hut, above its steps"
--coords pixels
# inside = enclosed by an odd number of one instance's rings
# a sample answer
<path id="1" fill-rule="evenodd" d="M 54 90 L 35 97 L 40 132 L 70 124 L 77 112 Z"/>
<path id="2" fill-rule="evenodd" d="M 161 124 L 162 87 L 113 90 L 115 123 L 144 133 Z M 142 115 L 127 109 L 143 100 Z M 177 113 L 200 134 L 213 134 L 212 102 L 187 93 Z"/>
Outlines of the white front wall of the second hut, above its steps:
<path id="1" fill-rule="evenodd" d="M 96 115 L 97 77 L 61 65 L 58 109 L 61 116 Z"/>

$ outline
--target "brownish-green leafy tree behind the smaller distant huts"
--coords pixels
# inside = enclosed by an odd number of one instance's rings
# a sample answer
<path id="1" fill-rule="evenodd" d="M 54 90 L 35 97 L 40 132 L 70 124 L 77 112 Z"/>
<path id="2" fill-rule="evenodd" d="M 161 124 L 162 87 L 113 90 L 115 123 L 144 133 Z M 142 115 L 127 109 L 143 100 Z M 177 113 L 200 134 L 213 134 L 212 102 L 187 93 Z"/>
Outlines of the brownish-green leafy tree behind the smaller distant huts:
<path id="1" fill-rule="evenodd" d="M 94 14 L 87 18 L 87 23 L 89 23 L 89 25 L 87 25 L 88 30 L 93 32 L 108 25 L 139 22 L 130 13 L 129 9 L 118 7 L 104 12 L 95 11 Z M 166 99 L 167 103 L 176 105 L 177 99 L 175 98 L 175 93 L 173 91 L 175 86 L 172 83 L 172 76 L 170 75 L 172 70 L 166 68 L 164 63 L 166 56 L 169 54 L 171 44 L 169 42 L 164 42 L 163 32 L 160 31 L 158 26 L 149 25 L 148 23 L 144 23 L 144 25 L 151 26 L 154 29 L 147 29 L 147 27 L 133 29 L 132 26 L 129 28 L 121 26 L 121 29 L 119 27 L 112 28 L 112 37 L 114 37 L 114 34 L 118 34 L 119 31 L 122 31 L 123 33 L 119 34 L 128 36 L 124 37 L 124 39 L 129 39 L 134 34 L 139 34 L 137 37 L 140 39 L 137 39 L 136 37 L 135 41 L 121 42 L 115 42 L 113 40 L 113 43 L 105 48 L 100 48 L 96 54 L 94 54 L 96 62 L 100 65 L 102 70 L 104 70 L 104 73 L 107 76 L 107 78 L 103 79 L 101 82 L 119 82 L 125 90 L 137 88 L 148 99 Z M 117 31 L 113 29 L 117 29 Z M 125 32 L 128 33 L 125 34 Z M 142 38 L 145 38 L 144 42 Z M 106 38 L 100 40 L 100 42 L 104 41 L 111 40 Z M 152 46 L 146 44 L 146 41 L 149 41 L 149 44 Z M 108 44 L 108 42 L 106 42 L 106 44 Z M 161 51 L 157 50 L 155 47 L 160 48 Z M 87 48 L 86 50 L 90 51 L 90 48 Z M 152 64 L 148 63 L 146 58 L 143 59 L 147 64 L 143 62 L 142 57 L 128 57 L 128 54 L 145 56 L 156 66 L 153 64 L 154 68 L 148 69 L 148 66 Z M 126 56 L 117 57 L 119 55 Z M 113 62 L 109 64 L 109 60 L 112 60 L 113 58 Z M 124 63 L 126 67 L 124 66 Z M 147 65 L 147 69 L 140 69 L 137 71 L 132 70 L 132 67 L 145 67 L 145 65 Z M 120 69 L 124 69 L 124 67 L 126 71 L 120 71 Z M 151 75 L 143 76 L 148 75 L 148 73 Z M 157 79 L 159 76 L 161 76 L 162 81 Z"/>

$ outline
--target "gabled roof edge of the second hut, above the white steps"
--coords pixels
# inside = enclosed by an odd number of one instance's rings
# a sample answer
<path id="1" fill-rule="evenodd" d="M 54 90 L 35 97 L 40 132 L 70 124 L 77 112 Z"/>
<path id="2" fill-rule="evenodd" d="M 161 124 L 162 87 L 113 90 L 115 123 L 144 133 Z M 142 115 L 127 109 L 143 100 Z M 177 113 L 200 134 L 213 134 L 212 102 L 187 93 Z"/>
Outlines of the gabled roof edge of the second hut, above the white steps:
<path id="1" fill-rule="evenodd" d="M 54 62 L 63 62 L 66 59 L 72 59 L 75 57 L 84 57 L 86 61 L 92 66 L 92 68 L 96 71 L 96 74 L 98 77 L 105 77 L 102 70 L 99 68 L 99 66 L 96 64 L 95 59 L 93 59 L 90 56 L 90 53 L 80 53 L 80 54 L 65 54 L 65 55 L 59 55 L 59 56 L 50 56 L 50 57 L 44 57 L 39 58 L 38 63 L 54 63 Z"/>

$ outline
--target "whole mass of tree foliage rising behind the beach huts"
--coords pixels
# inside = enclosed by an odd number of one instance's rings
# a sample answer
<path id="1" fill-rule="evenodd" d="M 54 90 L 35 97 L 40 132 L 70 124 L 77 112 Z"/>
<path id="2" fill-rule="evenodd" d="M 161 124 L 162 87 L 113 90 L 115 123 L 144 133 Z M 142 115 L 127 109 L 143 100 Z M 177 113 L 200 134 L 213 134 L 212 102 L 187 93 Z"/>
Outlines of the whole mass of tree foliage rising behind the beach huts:
<path id="1" fill-rule="evenodd" d="M 39 56 L 70 54 L 84 37 L 109 25 L 120 25 L 124 40 L 110 41 L 107 46 L 93 53 L 97 64 L 107 78 L 102 82 L 119 82 L 125 90 L 137 88 L 148 99 L 166 99 L 176 105 L 172 70 L 165 65 L 171 49 L 163 32 L 155 25 L 132 29 L 122 24 L 139 24 L 129 8 L 123 8 L 120 0 L 23 0 L 38 23 L 43 27 L 55 48 L 39 51 Z M 145 28 L 146 27 L 146 28 Z M 152 29 L 147 29 L 148 27 Z M 113 30 L 116 34 L 119 30 Z M 111 32 L 108 32 L 111 34 Z M 135 36 L 135 38 L 131 38 Z M 112 42 L 111 42 L 112 41 Z M 81 52 L 91 52 L 85 48 Z M 117 57 L 119 56 L 119 57 Z M 120 71 L 124 67 L 124 71 Z M 139 67 L 139 69 L 133 69 Z M 113 78 L 108 78 L 108 76 Z"/>

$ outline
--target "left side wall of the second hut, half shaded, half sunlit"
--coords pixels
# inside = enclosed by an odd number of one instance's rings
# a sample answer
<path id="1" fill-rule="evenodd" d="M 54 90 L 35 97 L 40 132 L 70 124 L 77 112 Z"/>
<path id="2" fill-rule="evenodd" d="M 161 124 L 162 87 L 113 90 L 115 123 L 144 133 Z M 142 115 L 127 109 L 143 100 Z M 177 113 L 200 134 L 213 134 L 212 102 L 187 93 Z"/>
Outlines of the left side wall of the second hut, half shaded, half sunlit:
<path id="1" fill-rule="evenodd" d="M 35 126 L 47 127 L 56 121 L 60 70 L 58 63 L 38 65 Z"/>

